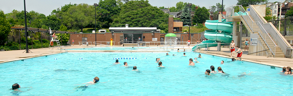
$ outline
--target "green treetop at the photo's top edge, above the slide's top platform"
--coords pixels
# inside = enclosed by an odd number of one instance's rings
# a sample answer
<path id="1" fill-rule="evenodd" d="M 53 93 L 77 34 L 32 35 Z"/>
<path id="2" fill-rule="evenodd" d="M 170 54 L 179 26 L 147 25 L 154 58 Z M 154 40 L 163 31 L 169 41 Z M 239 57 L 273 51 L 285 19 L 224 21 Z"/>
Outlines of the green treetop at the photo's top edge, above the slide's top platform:
<path id="1" fill-rule="evenodd" d="M 242 5 L 243 7 L 249 5 L 258 5 L 268 3 L 268 0 L 237 0 L 237 5 Z"/>

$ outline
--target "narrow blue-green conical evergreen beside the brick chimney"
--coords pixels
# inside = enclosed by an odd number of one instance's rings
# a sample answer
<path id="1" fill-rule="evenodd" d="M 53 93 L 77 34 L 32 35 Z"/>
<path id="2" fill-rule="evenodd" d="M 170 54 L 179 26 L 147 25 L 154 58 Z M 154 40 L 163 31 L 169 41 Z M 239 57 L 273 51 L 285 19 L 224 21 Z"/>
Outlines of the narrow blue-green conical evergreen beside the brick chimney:
<path id="1" fill-rule="evenodd" d="M 181 21 L 183 22 L 183 25 L 190 25 L 190 14 L 189 14 L 189 6 L 185 6 L 181 12 L 180 16 Z"/>

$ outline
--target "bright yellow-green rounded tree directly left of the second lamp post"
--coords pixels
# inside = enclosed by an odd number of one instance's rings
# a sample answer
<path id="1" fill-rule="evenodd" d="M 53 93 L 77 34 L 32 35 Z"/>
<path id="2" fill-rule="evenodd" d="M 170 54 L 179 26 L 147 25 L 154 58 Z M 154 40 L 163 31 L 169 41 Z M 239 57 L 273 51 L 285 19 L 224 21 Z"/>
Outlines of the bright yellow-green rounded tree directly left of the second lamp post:
<path id="1" fill-rule="evenodd" d="M 64 18 L 64 25 L 74 29 L 80 28 L 82 32 L 85 26 L 88 26 L 88 24 L 94 22 L 94 10 L 93 6 L 85 3 L 78 4 L 77 6 L 71 6 L 68 8 L 67 12 L 62 14 L 62 17 Z"/>

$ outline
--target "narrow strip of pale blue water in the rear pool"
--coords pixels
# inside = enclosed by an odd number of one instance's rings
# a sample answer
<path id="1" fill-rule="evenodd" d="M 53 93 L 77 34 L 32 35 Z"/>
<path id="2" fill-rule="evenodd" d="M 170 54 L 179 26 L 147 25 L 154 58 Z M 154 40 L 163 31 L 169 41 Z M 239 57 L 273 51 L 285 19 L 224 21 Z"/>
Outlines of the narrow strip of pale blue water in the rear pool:
<path id="1" fill-rule="evenodd" d="M 93 48 L 75 48 L 68 50 L 135 50 L 132 47 L 93 47 Z"/>

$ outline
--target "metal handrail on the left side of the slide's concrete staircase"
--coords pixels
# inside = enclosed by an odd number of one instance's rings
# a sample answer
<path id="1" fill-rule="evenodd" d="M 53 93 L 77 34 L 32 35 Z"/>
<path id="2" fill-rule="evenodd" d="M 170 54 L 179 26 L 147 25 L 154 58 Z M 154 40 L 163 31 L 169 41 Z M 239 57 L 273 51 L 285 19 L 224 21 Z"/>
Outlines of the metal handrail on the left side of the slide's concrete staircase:
<path id="1" fill-rule="evenodd" d="M 240 12 L 240 14 L 239 15 L 241 15 L 241 17 L 243 17 L 243 19 L 245 20 L 245 22 L 247 23 L 247 25 L 248 25 L 248 27 L 251 29 L 251 31 L 254 33 L 254 32 L 258 32 L 259 34 L 260 34 L 260 37 L 262 37 L 262 39 L 265 41 L 265 44 L 268 46 L 268 48 L 270 49 L 270 51 L 272 51 L 272 46 L 277 46 L 276 44 L 275 44 L 275 42 L 272 40 L 272 38 L 270 37 L 270 35 L 268 35 L 268 33 L 267 33 L 267 31 L 265 31 L 265 29 L 263 28 L 263 26 L 260 24 L 260 22 L 253 22 L 253 20 L 251 19 L 251 17 L 249 16 L 249 15 L 247 15 L 247 12 L 244 10 L 244 8 L 241 6 L 241 5 L 234 5 L 234 6 L 231 6 L 231 7 L 233 7 L 233 8 L 227 8 L 227 10 L 228 9 L 232 9 L 232 10 L 230 10 L 230 11 L 232 11 L 233 12 L 233 14 L 232 14 L 232 16 L 234 16 L 234 12 L 235 12 L 235 10 L 234 10 L 234 7 L 236 8 L 236 7 L 239 7 L 239 12 Z M 246 14 L 242 14 L 242 13 L 246 13 Z M 231 14 L 231 12 L 230 12 L 230 14 Z M 229 13 L 227 14 L 227 15 L 230 15 Z M 249 18 L 248 18 L 249 17 Z M 251 20 L 251 22 L 248 22 L 248 19 L 250 19 Z M 254 29 L 253 28 L 253 24 L 255 23 L 255 25 L 257 25 L 258 26 L 258 28 L 257 29 Z M 256 31 L 255 31 L 256 30 Z M 265 32 L 265 33 L 260 33 L 260 32 Z M 264 36 L 265 35 L 265 36 Z M 270 38 L 270 40 L 271 41 L 268 41 L 268 39 L 267 38 Z M 268 44 L 268 42 L 272 42 L 274 45 L 269 45 Z M 275 55 L 275 53 L 273 53 L 273 55 Z"/>

